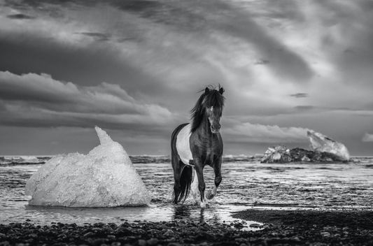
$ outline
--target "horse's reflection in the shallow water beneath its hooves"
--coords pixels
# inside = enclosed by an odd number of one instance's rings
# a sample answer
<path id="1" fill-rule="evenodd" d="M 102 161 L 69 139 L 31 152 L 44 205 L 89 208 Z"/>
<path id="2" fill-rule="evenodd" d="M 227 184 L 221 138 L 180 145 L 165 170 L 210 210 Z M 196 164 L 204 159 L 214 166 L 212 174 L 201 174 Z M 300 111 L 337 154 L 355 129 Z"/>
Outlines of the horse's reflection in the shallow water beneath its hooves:
<path id="1" fill-rule="evenodd" d="M 215 208 L 202 209 L 199 205 L 175 205 L 174 220 L 183 220 L 195 223 L 221 223 Z"/>

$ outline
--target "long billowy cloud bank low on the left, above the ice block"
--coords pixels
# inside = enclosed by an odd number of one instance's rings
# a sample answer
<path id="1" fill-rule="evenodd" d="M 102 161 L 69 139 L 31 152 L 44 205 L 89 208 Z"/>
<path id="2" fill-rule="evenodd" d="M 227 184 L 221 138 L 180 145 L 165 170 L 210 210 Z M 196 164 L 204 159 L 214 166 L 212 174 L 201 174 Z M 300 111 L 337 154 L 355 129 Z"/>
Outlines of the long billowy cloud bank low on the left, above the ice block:
<path id="1" fill-rule="evenodd" d="M 45 73 L 0 72 L 0 87 L 3 125 L 92 127 L 101 123 L 114 129 L 140 129 L 164 126 L 173 119 L 167 108 L 136 100 L 119 85 L 106 82 L 80 87 Z"/>

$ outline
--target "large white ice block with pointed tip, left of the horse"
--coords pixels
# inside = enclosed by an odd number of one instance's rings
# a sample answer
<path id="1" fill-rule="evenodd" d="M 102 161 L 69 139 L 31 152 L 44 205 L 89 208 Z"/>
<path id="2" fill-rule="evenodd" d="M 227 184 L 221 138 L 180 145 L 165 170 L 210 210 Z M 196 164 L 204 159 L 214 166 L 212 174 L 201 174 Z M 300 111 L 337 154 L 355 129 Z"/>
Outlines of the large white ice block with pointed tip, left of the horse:
<path id="1" fill-rule="evenodd" d="M 95 127 L 89 154 L 58 154 L 26 183 L 29 205 L 116 207 L 150 203 L 150 194 L 122 145 Z"/>

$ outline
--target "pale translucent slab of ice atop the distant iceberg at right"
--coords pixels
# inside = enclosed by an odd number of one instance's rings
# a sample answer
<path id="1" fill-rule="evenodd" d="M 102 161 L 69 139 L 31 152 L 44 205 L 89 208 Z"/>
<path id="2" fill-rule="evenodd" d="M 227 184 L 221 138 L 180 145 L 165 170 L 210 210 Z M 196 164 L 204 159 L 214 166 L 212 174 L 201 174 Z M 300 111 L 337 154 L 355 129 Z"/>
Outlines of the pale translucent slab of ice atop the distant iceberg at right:
<path id="1" fill-rule="evenodd" d="M 349 161 L 350 153 L 346 146 L 315 131 L 307 131 L 311 147 L 315 151 L 335 154 L 341 161 Z"/>

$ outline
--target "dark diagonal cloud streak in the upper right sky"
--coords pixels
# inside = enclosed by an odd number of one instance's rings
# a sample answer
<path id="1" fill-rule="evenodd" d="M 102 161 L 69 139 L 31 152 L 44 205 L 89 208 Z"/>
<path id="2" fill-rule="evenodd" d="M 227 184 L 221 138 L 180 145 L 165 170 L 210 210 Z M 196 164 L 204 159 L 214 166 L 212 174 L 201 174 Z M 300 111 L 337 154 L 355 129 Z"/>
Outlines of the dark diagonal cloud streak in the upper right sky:
<path id="1" fill-rule="evenodd" d="M 270 8 L 269 6 L 273 5 L 272 2 L 267 4 L 268 6 L 265 8 Z M 244 10 L 233 7 L 231 11 L 235 12 L 234 15 L 227 16 L 225 21 L 222 21 L 222 26 L 231 36 L 243 38 L 253 44 L 255 50 L 260 54 L 261 60 L 265 61 L 259 64 L 267 64 L 270 71 L 289 82 L 308 82 L 314 76 L 314 71 L 309 66 L 307 59 L 304 59 L 302 54 L 298 54 L 295 49 L 281 41 L 276 35 L 271 34 L 266 24 L 255 17 L 257 10 L 255 7 Z M 299 12 L 299 10 L 293 11 Z M 267 14 L 267 16 L 273 15 L 274 17 L 279 15 L 279 13 Z M 296 20 L 299 21 L 298 18 Z"/>

